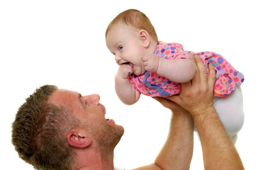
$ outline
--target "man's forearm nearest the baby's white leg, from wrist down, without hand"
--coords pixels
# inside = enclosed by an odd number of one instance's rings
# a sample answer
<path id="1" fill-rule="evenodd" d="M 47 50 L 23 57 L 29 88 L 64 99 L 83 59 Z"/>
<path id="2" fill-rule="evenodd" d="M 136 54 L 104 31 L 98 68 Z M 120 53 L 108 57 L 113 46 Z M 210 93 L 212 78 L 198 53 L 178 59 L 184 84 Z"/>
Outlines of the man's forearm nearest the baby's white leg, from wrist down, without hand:
<path id="1" fill-rule="evenodd" d="M 243 170 L 241 159 L 215 108 L 202 112 L 207 114 L 198 114 L 194 121 L 202 145 L 205 170 Z"/>

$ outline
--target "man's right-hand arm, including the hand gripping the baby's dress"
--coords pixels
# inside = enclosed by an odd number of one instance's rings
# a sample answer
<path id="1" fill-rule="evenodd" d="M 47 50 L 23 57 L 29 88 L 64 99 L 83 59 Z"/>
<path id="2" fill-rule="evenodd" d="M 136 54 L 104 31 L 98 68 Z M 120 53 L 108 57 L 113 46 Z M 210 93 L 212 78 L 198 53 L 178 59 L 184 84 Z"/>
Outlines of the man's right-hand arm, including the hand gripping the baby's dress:
<path id="1" fill-rule="evenodd" d="M 234 144 L 217 116 L 213 105 L 215 70 L 209 65 L 209 78 L 198 56 L 196 75 L 182 84 L 182 92 L 169 99 L 189 111 L 194 119 L 203 151 L 205 170 L 244 170 Z"/>

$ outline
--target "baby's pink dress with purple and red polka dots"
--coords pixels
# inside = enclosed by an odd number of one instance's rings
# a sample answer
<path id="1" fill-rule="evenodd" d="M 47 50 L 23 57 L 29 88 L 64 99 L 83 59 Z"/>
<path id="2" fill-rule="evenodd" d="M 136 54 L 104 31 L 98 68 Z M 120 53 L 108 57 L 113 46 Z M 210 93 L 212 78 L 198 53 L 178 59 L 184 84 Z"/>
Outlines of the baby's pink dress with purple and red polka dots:
<path id="1" fill-rule="evenodd" d="M 225 97 L 235 90 L 236 85 L 241 85 L 244 81 L 244 75 L 238 72 L 231 64 L 216 52 L 203 51 L 193 52 L 184 51 L 183 46 L 179 43 L 158 42 L 155 54 L 158 57 L 172 60 L 175 58 L 188 58 L 188 53 L 199 55 L 207 68 L 208 63 L 215 67 L 216 83 L 214 86 L 215 96 Z M 158 75 L 156 72 L 146 71 L 144 74 L 136 76 L 131 74 L 129 81 L 142 94 L 151 97 L 168 97 L 179 94 L 181 86 L 178 82 L 173 82 L 165 77 Z"/>

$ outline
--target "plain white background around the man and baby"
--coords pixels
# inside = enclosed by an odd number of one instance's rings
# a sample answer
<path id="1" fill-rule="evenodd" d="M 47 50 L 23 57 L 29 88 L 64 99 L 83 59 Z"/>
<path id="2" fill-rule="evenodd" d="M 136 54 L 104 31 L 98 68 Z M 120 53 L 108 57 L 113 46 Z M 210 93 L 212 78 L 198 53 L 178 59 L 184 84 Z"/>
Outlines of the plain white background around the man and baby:
<path id="1" fill-rule="evenodd" d="M 215 51 L 245 75 L 245 122 L 236 148 L 246 170 L 255 170 L 256 12 L 253 0 L 1 0 L 0 161 L 8 170 L 33 170 L 11 144 L 11 123 L 20 104 L 45 84 L 98 93 L 107 116 L 123 125 L 115 165 L 136 168 L 154 161 L 168 134 L 171 112 L 150 97 L 127 106 L 114 91 L 118 68 L 105 46 L 105 29 L 129 8 L 144 12 L 159 40 L 184 50 Z M 203 170 L 195 134 L 191 170 Z"/>

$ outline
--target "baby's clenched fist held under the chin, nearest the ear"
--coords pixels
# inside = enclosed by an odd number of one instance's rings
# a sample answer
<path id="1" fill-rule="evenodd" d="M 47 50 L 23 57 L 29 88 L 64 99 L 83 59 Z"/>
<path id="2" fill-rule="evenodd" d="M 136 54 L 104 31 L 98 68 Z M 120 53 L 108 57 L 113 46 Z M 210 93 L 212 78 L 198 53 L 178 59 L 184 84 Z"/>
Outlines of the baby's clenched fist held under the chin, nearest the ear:
<path id="1" fill-rule="evenodd" d="M 159 58 L 156 54 L 146 54 L 142 57 L 144 68 L 148 71 L 157 72 Z"/>

